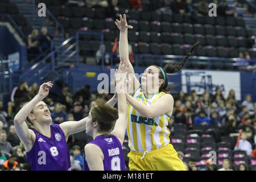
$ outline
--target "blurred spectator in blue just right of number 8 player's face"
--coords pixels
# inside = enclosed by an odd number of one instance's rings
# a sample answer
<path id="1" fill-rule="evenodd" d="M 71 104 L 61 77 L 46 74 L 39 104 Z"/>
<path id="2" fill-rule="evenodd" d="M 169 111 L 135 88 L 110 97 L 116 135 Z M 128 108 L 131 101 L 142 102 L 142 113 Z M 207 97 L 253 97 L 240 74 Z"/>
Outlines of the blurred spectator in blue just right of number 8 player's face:
<path id="1" fill-rule="evenodd" d="M 63 107 L 59 102 L 55 104 L 55 111 L 51 113 L 51 117 L 52 122 L 56 125 L 60 125 L 60 123 L 67 121 L 67 113 L 63 111 Z"/>

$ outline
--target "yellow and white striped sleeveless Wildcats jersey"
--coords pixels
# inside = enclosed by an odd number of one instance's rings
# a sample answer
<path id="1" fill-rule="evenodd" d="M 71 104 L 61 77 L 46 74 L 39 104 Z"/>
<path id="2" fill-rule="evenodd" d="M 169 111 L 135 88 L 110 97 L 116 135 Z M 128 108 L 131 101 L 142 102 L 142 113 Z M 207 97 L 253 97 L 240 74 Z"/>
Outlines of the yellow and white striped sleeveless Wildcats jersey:
<path id="1" fill-rule="evenodd" d="M 151 105 L 163 96 L 164 92 L 155 93 L 152 98 L 147 98 L 139 87 L 133 97 L 146 105 Z M 156 150 L 170 143 L 168 121 L 170 115 L 162 114 L 153 118 L 144 117 L 128 103 L 127 135 L 129 147 L 132 151 L 144 152 Z"/>

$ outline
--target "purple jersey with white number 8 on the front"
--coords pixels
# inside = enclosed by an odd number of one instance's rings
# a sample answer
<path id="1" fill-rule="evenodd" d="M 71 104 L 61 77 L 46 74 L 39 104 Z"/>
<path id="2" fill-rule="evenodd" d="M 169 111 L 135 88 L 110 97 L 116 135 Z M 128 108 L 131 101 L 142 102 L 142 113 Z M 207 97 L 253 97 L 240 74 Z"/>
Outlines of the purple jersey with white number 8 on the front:
<path id="1" fill-rule="evenodd" d="M 27 152 L 32 171 L 71 171 L 65 135 L 59 125 L 51 125 L 51 138 L 33 129 L 36 139 Z"/>

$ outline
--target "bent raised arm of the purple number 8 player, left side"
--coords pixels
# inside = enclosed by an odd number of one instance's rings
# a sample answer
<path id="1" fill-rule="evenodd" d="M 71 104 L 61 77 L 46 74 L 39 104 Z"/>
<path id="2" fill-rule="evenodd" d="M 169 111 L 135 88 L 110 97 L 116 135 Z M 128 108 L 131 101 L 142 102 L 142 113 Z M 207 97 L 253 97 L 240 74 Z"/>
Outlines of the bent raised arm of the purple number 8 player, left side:
<path id="1" fill-rule="evenodd" d="M 43 83 L 39 88 L 38 94 L 30 102 L 23 106 L 14 117 L 16 133 L 26 147 L 32 142 L 31 134 L 33 134 L 33 132 L 32 130 L 28 129 L 27 124 L 24 121 L 34 109 L 35 105 L 48 96 L 49 88 L 52 87 L 52 85 L 53 84 L 51 81 Z"/>

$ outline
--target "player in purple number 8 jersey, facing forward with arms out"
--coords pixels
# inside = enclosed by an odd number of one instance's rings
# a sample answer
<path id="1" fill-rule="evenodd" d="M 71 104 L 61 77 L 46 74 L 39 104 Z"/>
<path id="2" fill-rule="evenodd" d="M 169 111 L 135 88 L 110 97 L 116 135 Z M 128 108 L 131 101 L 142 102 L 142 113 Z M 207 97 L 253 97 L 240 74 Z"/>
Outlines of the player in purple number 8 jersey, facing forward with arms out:
<path id="1" fill-rule="evenodd" d="M 42 84 L 38 94 L 14 118 L 16 133 L 26 147 L 32 171 L 71 170 L 68 136 L 85 130 L 87 118 L 51 125 L 51 114 L 42 100 L 52 86 L 51 81 Z M 28 123 L 34 127 L 32 130 L 25 122 L 27 117 Z"/>

